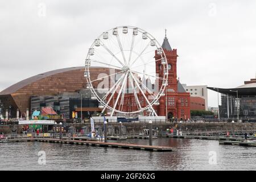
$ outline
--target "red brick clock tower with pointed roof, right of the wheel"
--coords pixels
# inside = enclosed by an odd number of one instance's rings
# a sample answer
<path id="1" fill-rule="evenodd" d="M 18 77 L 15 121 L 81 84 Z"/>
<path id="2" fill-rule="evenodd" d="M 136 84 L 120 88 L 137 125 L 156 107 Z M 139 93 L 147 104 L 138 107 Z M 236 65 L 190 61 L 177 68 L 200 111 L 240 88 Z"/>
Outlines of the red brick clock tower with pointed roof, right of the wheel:
<path id="1" fill-rule="evenodd" d="M 160 97 L 160 105 L 156 107 L 158 115 L 167 115 L 168 118 L 190 118 L 190 94 L 185 91 L 177 80 L 177 49 L 172 49 L 167 37 L 162 44 L 168 63 L 168 85 L 166 95 Z M 159 55 L 155 55 L 159 59 Z M 162 64 L 156 61 L 156 73 L 161 73 Z M 160 85 L 160 84 L 159 84 Z"/>

